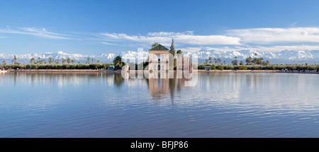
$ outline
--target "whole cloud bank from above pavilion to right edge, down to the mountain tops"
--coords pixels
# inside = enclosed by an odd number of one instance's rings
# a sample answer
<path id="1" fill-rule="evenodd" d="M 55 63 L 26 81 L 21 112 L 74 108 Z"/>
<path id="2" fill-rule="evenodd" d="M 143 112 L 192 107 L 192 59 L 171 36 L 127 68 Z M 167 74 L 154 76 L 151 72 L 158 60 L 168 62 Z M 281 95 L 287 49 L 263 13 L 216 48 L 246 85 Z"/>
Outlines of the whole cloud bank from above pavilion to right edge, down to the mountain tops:
<path id="1" fill-rule="evenodd" d="M 100 33 L 108 45 L 116 42 L 136 42 L 138 45 L 150 45 L 159 42 L 169 46 L 172 39 L 175 45 L 185 52 L 216 49 L 236 51 L 242 49 L 277 52 L 289 50 L 319 50 L 319 28 L 247 28 L 225 30 L 221 35 L 195 35 L 194 31 L 184 33 L 158 32 L 147 35 L 127 35 L 124 33 Z"/>

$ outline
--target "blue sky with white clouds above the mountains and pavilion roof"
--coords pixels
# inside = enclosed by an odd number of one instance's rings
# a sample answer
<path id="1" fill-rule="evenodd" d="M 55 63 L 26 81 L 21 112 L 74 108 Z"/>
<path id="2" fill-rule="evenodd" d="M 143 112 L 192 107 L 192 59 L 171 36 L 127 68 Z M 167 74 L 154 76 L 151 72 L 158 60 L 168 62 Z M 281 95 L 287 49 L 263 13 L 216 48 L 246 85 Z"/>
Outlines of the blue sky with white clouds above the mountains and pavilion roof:
<path id="1" fill-rule="evenodd" d="M 0 53 L 319 50 L 319 1 L 0 1 Z"/>

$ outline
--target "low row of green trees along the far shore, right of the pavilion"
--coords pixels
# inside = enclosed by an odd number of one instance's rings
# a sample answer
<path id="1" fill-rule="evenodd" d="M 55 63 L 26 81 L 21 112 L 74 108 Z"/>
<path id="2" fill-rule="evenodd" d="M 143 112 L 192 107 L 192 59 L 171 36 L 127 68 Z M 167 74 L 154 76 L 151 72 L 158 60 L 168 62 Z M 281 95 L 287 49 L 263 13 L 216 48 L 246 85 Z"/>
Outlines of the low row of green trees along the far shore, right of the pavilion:
<path id="1" fill-rule="evenodd" d="M 198 66 L 194 65 L 194 69 L 205 69 L 205 66 L 211 66 L 211 69 L 219 70 L 281 70 L 281 69 L 290 69 L 290 70 L 316 70 L 319 69 L 319 65 L 225 65 L 225 64 L 199 64 Z"/>

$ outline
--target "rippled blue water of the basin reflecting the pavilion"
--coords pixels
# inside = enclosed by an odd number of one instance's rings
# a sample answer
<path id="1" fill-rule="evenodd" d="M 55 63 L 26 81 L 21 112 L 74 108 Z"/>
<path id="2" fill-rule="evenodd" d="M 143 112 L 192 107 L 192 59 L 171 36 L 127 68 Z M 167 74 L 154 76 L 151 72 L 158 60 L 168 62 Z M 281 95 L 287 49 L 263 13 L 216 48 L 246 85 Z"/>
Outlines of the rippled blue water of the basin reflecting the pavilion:
<path id="1" fill-rule="evenodd" d="M 318 74 L 0 74 L 0 137 L 319 137 Z"/>

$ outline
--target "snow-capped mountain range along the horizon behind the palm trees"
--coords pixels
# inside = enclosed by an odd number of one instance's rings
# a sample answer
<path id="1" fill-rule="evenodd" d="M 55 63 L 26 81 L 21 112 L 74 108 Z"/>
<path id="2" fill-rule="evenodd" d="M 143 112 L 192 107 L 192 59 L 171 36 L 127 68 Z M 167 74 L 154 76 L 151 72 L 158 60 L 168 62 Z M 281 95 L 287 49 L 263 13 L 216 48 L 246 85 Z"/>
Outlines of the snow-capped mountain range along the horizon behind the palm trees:
<path id="1" fill-rule="evenodd" d="M 312 50 L 312 51 L 293 51 L 293 50 L 283 50 L 280 52 L 267 52 L 267 51 L 254 51 L 254 50 L 239 50 L 233 52 L 223 52 L 218 50 L 206 50 L 202 49 L 198 54 L 198 63 L 201 64 L 206 62 L 206 59 L 212 57 L 213 59 L 220 58 L 225 61 L 227 64 L 230 64 L 232 60 L 237 57 L 237 60 L 245 62 L 247 57 L 255 57 L 254 54 L 257 53 L 257 58 L 262 57 L 264 61 L 269 60 L 271 64 L 318 64 L 319 63 L 319 50 Z M 30 54 L 4 54 L 0 53 L 0 62 L 1 64 L 3 61 L 6 61 L 7 64 L 11 64 L 13 62 L 13 56 L 16 55 L 17 62 L 21 64 L 28 64 L 30 63 L 30 59 L 33 57 L 35 58 L 35 62 L 39 61 L 40 59 L 45 59 L 48 61 L 48 58 L 51 57 L 52 59 L 60 59 L 62 58 L 69 58 L 73 59 L 76 63 L 86 63 L 88 57 L 93 59 L 90 61 L 91 63 L 97 63 L 98 60 L 101 63 L 111 63 L 113 62 L 114 57 L 117 56 L 115 53 L 105 53 L 99 55 L 82 55 L 82 54 L 67 54 L 65 52 L 46 52 L 46 53 L 30 53 Z M 137 59 L 135 57 L 144 57 L 147 58 L 148 52 L 123 52 L 121 54 L 122 58 L 125 62 L 135 62 Z M 40 57 L 40 59 L 39 59 Z M 195 56 L 194 56 L 195 57 Z M 209 61 L 208 61 L 209 62 Z M 215 61 L 212 60 L 214 63 Z"/>

